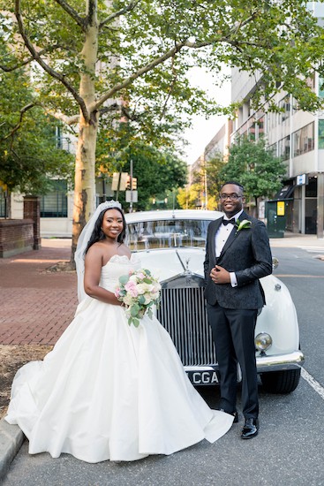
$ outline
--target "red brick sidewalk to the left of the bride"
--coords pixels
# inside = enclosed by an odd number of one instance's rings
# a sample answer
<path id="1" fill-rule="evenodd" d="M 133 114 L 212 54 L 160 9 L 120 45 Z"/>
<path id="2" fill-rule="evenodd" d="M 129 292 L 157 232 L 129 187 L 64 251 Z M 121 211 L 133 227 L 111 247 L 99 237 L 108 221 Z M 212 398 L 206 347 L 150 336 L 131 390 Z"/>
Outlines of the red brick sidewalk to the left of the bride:
<path id="1" fill-rule="evenodd" d="M 42 239 L 41 249 L 0 259 L 0 344 L 54 345 L 78 305 L 75 272 L 49 272 L 70 260 L 71 240 Z"/>

